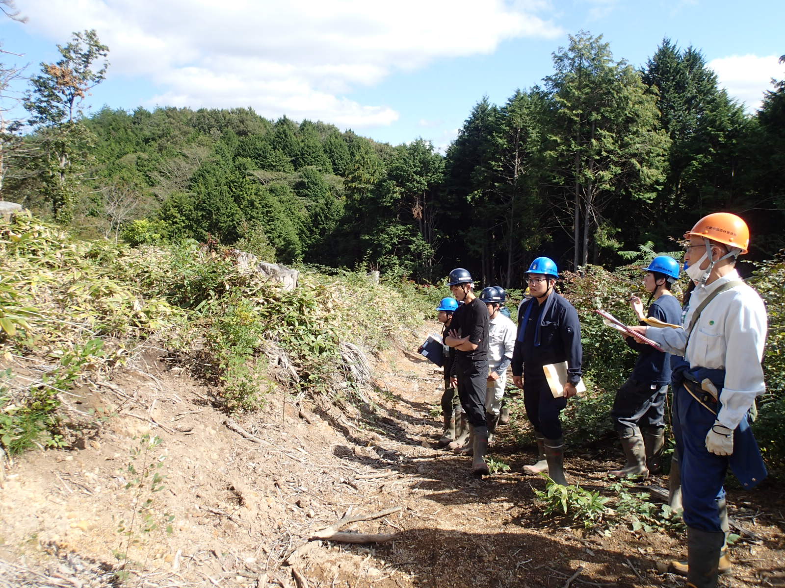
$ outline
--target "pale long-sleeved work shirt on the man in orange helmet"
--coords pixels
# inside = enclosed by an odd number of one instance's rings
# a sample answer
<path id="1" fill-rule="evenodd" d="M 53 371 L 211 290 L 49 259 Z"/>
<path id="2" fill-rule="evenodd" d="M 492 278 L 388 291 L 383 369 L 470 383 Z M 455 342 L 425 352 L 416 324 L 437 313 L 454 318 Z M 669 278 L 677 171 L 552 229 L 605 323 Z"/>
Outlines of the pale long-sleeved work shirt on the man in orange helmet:
<path id="1" fill-rule="evenodd" d="M 690 325 L 692 314 L 711 292 L 738 279 L 739 273 L 732 270 L 711 284 L 693 290 L 685 327 Z M 729 429 L 736 429 L 755 397 L 766 389 L 761 366 L 766 329 L 763 300 L 758 292 L 744 284 L 717 294 L 703 309 L 698 324 L 692 328 L 686 354 L 687 332 L 684 329 L 649 327 L 646 336 L 666 351 L 684 356 L 690 368 L 725 369 L 722 408 L 717 420 Z"/>

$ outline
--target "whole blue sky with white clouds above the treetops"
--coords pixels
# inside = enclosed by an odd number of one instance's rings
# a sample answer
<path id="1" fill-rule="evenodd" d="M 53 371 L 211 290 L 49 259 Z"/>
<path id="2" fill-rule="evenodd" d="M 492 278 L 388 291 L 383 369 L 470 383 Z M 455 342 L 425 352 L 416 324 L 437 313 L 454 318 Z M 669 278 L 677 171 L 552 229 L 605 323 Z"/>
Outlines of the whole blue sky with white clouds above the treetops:
<path id="1" fill-rule="evenodd" d="M 444 149 L 489 96 L 503 103 L 552 72 L 580 30 L 645 63 L 663 37 L 693 45 L 753 112 L 785 78 L 785 2 L 726 0 L 16 0 L 0 21 L 5 64 L 55 61 L 72 31 L 110 48 L 93 108 L 254 107 Z M 8 106 L 8 103 L 5 104 Z"/>

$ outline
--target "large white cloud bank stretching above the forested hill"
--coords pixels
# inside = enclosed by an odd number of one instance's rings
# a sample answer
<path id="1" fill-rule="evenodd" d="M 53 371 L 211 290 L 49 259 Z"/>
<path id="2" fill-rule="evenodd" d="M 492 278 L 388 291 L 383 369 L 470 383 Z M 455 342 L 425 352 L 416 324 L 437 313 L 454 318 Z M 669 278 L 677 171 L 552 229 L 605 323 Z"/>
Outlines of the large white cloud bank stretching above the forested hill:
<path id="1" fill-rule="evenodd" d="M 95 28 L 111 76 L 146 79 L 152 103 L 250 105 L 259 114 L 389 125 L 391 107 L 352 89 L 440 58 L 493 53 L 510 38 L 563 31 L 545 0 L 28 0 L 28 27 L 54 42 Z"/>

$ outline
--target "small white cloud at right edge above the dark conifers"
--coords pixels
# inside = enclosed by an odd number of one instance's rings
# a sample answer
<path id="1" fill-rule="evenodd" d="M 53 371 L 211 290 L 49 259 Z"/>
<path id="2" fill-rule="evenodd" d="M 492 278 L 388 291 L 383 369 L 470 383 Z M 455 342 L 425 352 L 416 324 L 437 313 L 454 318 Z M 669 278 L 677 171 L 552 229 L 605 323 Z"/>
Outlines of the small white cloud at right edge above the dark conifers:
<path id="1" fill-rule="evenodd" d="M 733 55 L 711 60 L 708 67 L 716 72 L 720 85 L 732 98 L 754 112 L 761 106 L 765 90 L 772 89 L 772 78 L 785 77 L 779 59 L 776 55 Z"/>

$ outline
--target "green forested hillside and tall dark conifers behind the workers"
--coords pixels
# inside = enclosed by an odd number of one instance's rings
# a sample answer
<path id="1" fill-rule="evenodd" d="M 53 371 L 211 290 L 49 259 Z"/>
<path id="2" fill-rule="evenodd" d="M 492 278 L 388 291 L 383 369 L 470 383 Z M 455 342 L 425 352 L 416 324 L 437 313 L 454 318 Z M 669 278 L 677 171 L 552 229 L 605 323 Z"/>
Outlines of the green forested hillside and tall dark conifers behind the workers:
<path id="1" fill-rule="evenodd" d="M 392 147 L 242 107 L 86 116 L 108 55 L 86 31 L 32 78 L 34 126 L 6 136 L 2 198 L 84 237 L 213 238 L 269 260 L 425 282 L 460 265 L 483 284 L 520 286 L 542 254 L 615 267 L 647 241 L 676 249 L 715 210 L 742 215 L 751 258 L 771 258 L 785 245 L 785 83 L 745 114 L 699 49 L 654 49 L 636 69 L 601 37 L 571 37 L 542 85 L 510 80 L 500 105 L 480 97 L 443 155 L 421 139 Z"/>

